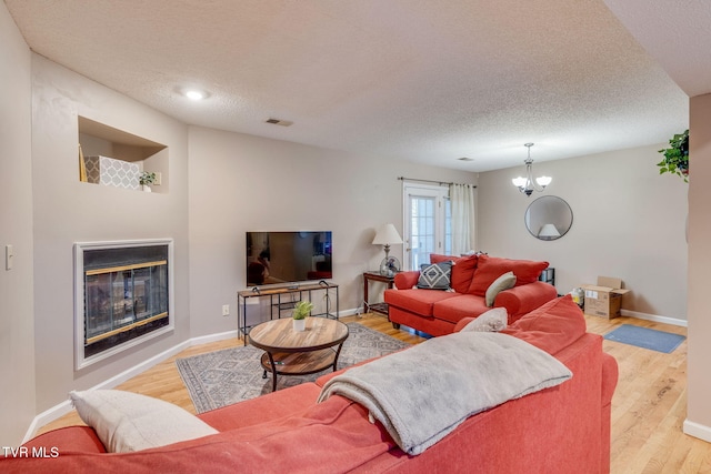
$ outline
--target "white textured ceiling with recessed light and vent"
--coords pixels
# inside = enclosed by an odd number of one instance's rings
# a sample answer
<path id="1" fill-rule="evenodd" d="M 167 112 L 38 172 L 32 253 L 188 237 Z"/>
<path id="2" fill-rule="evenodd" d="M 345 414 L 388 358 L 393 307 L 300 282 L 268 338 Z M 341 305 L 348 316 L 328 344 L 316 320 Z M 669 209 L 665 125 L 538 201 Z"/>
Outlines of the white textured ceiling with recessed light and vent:
<path id="1" fill-rule="evenodd" d="M 527 142 L 544 161 L 688 127 L 687 94 L 601 0 L 6 4 L 39 54 L 213 129 L 487 171 L 522 167 Z"/>

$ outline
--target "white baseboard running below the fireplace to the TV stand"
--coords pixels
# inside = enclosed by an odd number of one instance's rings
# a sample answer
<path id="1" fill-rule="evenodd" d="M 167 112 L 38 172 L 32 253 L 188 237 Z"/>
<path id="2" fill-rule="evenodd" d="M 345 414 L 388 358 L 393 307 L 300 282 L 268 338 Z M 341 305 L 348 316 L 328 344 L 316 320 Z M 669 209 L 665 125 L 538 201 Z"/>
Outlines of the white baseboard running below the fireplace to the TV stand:
<path id="1" fill-rule="evenodd" d="M 178 354 L 179 352 L 184 351 L 188 347 L 191 347 L 193 345 L 199 345 L 199 344 L 207 344 L 209 342 L 223 341 L 230 337 L 237 337 L 238 334 L 239 332 L 236 330 L 236 331 L 228 331 L 223 333 L 217 333 L 217 334 L 210 334 L 210 335 L 189 339 L 188 341 L 181 342 L 180 344 L 177 344 L 161 352 L 160 354 L 156 354 L 152 357 L 141 362 L 140 364 L 137 364 L 131 369 L 128 369 L 121 372 L 120 374 L 117 374 L 111 379 L 108 379 L 101 382 L 100 384 L 92 386 L 89 390 L 113 389 L 114 386 L 126 382 L 129 379 L 134 377 L 136 375 L 139 375 L 146 372 L 153 365 L 157 365 L 158 363 L 163 362 L 166 359 L 169 359 Z M 27 433 L 24 434 L 24 438 L 22 440 L 22 443 L 27 443 L 29 440 L 34 437 L 37 430 L 40 426 L 44 426 L 46 424 L 51 423 L 61 416 L 64 416 L 67 413 L 71 412 L 72 410 L 73 407 L 71 405 L 71 402 L 69 400 L 66 400 L 62 403 L 54 405 L 51 409 L 46 410 L 44 412 L 34 416 L 34 418 L 32 420 L 32 423 L 30 423 L 30 426 Z"/>

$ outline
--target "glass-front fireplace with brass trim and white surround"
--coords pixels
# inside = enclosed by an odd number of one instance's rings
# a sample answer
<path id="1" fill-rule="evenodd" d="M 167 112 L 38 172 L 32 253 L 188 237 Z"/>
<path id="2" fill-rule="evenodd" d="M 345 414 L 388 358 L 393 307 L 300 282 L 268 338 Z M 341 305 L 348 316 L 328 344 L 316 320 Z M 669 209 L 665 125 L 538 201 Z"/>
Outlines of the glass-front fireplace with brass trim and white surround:
<path id="1" fill-rule="evenodd" d="M 172 329 L 171 256 L 172 240 L 74 245 L 77 369 Z"/>

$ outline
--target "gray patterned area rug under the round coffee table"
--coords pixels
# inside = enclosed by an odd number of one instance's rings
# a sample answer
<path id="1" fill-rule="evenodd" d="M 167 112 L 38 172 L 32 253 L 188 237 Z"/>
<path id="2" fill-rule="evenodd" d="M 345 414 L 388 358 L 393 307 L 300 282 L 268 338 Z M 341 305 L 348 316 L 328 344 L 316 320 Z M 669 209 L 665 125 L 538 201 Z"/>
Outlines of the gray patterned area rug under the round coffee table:
<path id="1" fill-rule="evenodd" d="M 349 336 L 338 357 L 339 369 L 410 345 L 359 323 L 349 323 L 348 330 Z M 176 365 L 196 411 L 204 413 L 270 393 L 271 373 L 262 379 L 264 370 L 259 363 L 262 354 L 262 350 L 247 345 L 178 359 Z M 312 382 L 329 372 L 330 369 L 311 375 L 280 375 L 277 390 Z"/>

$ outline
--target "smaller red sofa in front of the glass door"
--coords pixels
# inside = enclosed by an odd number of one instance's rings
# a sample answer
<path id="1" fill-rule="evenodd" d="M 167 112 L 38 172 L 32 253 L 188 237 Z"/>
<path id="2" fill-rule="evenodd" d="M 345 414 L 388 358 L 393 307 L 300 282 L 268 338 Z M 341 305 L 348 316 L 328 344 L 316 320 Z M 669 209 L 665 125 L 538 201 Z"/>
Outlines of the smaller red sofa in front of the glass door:
<path id="1" fill-rule="evenodd" d="M 432 254 L 431 263 L 453 261 L 451 291 L 415 288 L 420 272 L 395 275 L 394 289 L 385 290 L 389 319 L 395 327 L 404 324 L 430 335 L 444 335 L 464 317 L 477 317 L 491 307 L 484 295 L 489 286 L 502 274 L 513 272 L 515 285 L 497 294 L 493 307 L 505 307 L 509 324 L 523 314 L 554 299 L 555 288 L 538 281 L 548 262 L 510 260 L 485 254 L 461 258 Z"/>

